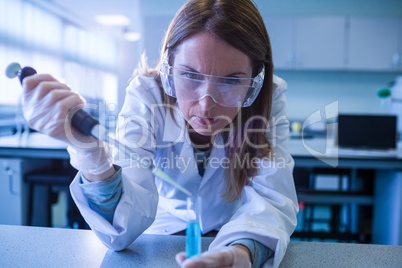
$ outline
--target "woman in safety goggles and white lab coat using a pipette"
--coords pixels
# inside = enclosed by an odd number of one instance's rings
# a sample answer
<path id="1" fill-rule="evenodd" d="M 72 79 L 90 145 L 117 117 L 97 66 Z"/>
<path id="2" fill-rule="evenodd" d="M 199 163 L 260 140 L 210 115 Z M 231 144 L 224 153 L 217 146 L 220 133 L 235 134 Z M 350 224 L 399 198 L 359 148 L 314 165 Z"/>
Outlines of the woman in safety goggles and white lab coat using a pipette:
<path id="1" fill-rule="evenodd" d="M 286 83 L 273 75 L 269 37 L 250 0 L 190 0 L 176 14 L 161 60 L 127 88 L 117 136 L 124 146 L 200 196 L 209 251 L 182 267 L 281 262 L 296 225 L 294 162 L 287 152 Z M 81 98 L 49 75 L 24 80 L 34 129 L 69 143 L 79 170 L 70 189 L 102 242 L 122 250 L 140 234 L 186 228 L 186 195 L 123 154 L 73 130 Z M 66 128 L 65 128 L 66 125 Z M 74 142 L 73 142 L 74 140 Z M 120 148 L 122 149 L 122 148 Z"/>

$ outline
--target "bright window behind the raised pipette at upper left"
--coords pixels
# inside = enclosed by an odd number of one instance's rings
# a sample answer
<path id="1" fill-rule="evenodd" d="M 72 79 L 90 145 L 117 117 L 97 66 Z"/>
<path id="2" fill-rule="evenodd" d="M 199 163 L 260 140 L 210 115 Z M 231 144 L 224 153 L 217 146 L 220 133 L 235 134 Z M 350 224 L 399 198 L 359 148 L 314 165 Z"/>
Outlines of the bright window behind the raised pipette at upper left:
<path id="1" fill-rule="evenodd" d="M 0 0 L 0 108 L 22 93 L 4 70 L 11 62 L 64 78 L 91 100 L 117 104 L 117 41 L 82 29 L 27 0 Z M 1 110 L 0 110 L 1 112 Z"/>

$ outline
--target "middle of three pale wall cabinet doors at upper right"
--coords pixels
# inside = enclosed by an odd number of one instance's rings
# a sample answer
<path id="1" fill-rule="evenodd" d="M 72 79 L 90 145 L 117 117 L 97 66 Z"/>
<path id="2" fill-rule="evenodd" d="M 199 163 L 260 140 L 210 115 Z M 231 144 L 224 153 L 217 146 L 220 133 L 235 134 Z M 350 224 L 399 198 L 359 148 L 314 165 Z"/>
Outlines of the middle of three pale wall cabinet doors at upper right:
<path id="1" fill-rule="evenodd" d="M 345 67 L 345 18 L 311 17 L 296 20 L 296 68 Z"/>

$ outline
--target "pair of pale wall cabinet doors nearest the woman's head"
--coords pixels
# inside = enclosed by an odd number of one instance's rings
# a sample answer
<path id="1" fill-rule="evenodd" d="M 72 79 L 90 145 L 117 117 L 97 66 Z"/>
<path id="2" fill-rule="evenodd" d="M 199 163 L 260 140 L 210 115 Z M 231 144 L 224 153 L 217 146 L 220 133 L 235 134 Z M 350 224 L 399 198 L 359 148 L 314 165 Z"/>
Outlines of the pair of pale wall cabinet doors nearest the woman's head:
<path id="1" fill-rule="evenodd" d="M 275 69 L 345 68 L 344 17 L 269 17 Z"/>

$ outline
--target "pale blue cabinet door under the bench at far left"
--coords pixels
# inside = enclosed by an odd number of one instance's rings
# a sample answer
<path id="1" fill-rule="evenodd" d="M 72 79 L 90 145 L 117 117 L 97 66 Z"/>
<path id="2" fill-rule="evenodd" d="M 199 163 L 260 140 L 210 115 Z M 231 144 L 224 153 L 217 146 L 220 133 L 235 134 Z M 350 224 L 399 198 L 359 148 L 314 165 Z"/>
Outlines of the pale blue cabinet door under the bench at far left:
<path id="1" fill-rule="evenodd" d="M 20 159 L 0 159 L 0 224 L 23 224 Z"/>

